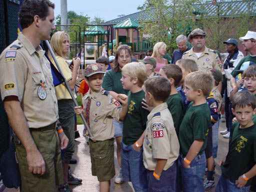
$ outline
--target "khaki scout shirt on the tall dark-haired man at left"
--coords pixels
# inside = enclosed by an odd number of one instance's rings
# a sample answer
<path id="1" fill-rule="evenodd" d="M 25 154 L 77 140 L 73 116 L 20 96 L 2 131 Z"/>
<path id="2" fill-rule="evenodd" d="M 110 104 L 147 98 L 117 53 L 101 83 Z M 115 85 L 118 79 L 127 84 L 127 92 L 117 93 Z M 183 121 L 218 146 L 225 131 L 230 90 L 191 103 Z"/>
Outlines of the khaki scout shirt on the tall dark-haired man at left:
<path id="1" fill-rule="evenodd" d="M 58 118 L 50 64 L 44 52 L 40 46 L 35 49 L 20 33 L 17 40 L 0 54 L 1 97 L 4 99 L 6 96 L 16 95 L 28 127 L 32 128 L 47 126 Z M 38 96 L 41 95 L 38 90 L 42 90 L 42 85 L 47 93 L 44 99 Z"/>

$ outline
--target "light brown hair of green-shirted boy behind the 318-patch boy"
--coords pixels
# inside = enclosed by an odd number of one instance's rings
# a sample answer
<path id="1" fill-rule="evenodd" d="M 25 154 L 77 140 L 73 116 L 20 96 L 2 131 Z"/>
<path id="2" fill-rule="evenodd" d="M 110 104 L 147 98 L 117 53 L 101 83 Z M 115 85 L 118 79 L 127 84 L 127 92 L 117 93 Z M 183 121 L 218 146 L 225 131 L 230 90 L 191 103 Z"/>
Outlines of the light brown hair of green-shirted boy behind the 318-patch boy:
<path id="1" fill-rule="evenodd" d="M 185 77 L 185 83 L 189 84 L 194 90 L 201 89 L 203 95 L 208 95 L 213 87 L 214 79 L 211 74 L 204 71 L 190 72 Z"/>

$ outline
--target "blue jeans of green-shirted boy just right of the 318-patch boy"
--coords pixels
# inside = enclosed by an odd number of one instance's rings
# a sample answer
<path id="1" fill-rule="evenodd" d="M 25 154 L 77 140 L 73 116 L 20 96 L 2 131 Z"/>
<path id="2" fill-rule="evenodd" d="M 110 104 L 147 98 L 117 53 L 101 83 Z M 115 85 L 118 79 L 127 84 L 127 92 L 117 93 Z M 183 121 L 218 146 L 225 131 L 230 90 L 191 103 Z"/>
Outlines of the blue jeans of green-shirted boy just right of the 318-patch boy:
<path id="1" fill-rule="evenodd" d="M 203 176 L 206 167 L 205 153 L 198 154 L 190 163 L 190 168 L 182 165 L 184 155 L 178 156 L 176 191 L 204 192 Z"/>

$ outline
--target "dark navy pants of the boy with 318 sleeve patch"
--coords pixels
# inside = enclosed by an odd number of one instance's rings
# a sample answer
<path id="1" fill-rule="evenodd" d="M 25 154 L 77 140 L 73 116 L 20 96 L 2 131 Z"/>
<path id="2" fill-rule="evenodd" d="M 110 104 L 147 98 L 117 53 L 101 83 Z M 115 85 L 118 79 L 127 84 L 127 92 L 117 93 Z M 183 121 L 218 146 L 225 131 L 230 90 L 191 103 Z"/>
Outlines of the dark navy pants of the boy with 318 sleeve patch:
<path id="1" fill-rule="evenodd" d="M 168 169 L 162 171 L 160 180 L 153 176 L 153 170 L 146 170 L 148 192 L 175 192 L 176 174 L 176 161 Z"/>

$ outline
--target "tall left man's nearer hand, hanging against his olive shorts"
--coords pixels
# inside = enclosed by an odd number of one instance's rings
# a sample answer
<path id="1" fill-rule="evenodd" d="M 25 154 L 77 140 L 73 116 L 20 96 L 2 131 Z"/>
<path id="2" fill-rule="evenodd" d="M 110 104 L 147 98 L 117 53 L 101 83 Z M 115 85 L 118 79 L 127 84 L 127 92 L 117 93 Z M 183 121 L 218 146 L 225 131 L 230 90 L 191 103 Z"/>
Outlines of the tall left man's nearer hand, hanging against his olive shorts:
<path id="1" fill-rule="evenodd" d="M 26 151 L 26 159 L 30 172 L 40 175 L 44 174 L 45 162 L 37 149 L 35 151 Z"/>

